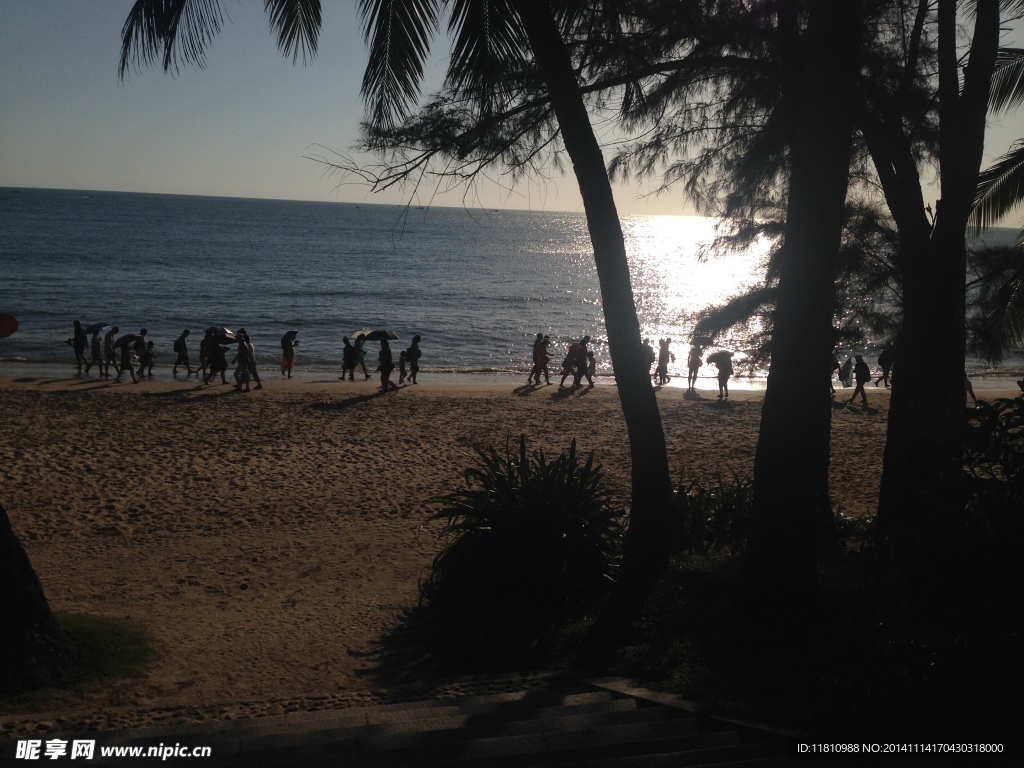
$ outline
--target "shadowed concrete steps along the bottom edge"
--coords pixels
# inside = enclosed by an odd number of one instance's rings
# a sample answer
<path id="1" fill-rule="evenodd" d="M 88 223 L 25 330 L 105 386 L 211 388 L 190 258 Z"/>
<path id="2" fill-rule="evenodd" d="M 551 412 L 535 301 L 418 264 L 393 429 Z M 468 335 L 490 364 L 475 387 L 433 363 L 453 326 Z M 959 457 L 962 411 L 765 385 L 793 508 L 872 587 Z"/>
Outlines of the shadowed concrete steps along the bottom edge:
<path id="1" fill-rule="evenodd" d="M 784 741 L 757 743 L 749 728 L 708 721 L 658 695 L 590 685 L 295 713 L 94 734 L 104 744 L 212 748 L 204 765 L 352 768 L 760 765 Z M 93 736 L 76 736 L 90 738 Z"/>

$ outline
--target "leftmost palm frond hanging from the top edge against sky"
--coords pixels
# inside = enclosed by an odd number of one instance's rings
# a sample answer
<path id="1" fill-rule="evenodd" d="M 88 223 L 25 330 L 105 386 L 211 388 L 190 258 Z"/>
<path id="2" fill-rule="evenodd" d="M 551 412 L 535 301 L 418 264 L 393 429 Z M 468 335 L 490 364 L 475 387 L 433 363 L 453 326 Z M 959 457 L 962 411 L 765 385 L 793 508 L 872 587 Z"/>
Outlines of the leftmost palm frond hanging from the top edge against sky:
<path id="1" fill-rule="evenodd" d="M 218 0 L 136 0 L 121 29 L 118 77 L 158 58 L 164 72 L 177 72 L 182 61 L 202 68 L 222 24 Z"/>

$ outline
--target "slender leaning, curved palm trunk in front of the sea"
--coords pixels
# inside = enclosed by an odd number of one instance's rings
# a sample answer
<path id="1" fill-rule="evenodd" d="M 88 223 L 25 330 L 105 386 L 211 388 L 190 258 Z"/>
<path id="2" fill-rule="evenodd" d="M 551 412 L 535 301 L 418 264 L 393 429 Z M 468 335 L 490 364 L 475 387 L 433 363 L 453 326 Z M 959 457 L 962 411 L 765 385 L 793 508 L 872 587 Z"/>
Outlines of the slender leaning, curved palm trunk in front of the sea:
<path id="1" fill-rule="evenodd" d="M 601 147 L 555 19 L 547 3 L 521 0 L 516 8 L 583 195 L 633 463 L 633 505 L 623 577 L 645 582 L 664 567 L 671 551 L 672 481 L 662 415 L 643 355 L 623 229 Z"/>

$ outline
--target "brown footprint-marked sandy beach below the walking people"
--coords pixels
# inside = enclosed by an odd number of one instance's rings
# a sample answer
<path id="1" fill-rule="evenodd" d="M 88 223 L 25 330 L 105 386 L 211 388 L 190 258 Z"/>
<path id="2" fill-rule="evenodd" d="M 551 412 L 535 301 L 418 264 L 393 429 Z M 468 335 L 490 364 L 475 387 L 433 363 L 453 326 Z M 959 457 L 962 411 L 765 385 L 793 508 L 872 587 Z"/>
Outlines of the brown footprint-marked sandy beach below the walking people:
<path id="1" fill-rule="evenodd" d="M 524 432 L 557 453 L 575 437 L 625 504 L 610 384 L 423 376 L 380 396 L 373 380 L 267 378 L 249 394 L 195 379 L 0 379 L 0 503 L 52 608 L 134 620 L 158 646 L 144 679 L 62 695 L 48 716 L 99 727 L 154 708 L 230 717 L 231 702 L 278 712 L 386 686 L 375 648 L 415 605 L 435 552 L 427 501 L 461 482 L 476 445 Z M 658 392 L 674 477 L 750 472 L 763 392 L 699 394 Z M 833 493 L 848 515 L 877 503 L 889 400 L 873 387 L 868 397 L 866 410 L 833 411 Z M 0 735 L 41 718 L 8 705 Z"/>

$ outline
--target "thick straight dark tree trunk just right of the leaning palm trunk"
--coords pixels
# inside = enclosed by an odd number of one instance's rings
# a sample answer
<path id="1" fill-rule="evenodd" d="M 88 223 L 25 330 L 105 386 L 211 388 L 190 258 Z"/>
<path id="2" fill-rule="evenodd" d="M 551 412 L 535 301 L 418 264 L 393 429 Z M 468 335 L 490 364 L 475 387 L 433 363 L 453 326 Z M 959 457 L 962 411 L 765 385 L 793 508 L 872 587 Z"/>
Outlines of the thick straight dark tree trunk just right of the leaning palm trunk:
<path id="1" fill-rule="evenodd" d="M 791 90 L 799 95 L 790 200 L 744 564 L 745 596 L 768 613 L 802 608 L 816 594 L 817 541 L 830 520 L 828 380 L 860 29 L 859 3 L 810 3 Z"/>

